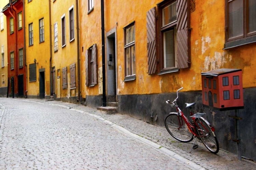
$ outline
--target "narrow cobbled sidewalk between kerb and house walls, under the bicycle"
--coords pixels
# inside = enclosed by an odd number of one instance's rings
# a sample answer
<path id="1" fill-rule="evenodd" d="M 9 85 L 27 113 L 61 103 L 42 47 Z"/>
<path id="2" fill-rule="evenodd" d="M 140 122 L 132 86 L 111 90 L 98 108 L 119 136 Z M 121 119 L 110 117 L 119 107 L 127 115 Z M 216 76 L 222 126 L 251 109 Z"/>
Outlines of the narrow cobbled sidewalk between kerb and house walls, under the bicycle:
<path id="1" fill-rule="evenodd" d="M 12 100 L 12 99 L 10 99 Z M 210 153 L 203 144 L 199 144 L 198 149 L 192 150 L 191 153 L 188 153 L 193 145 L 194 141 L 189 143 L 181 143 L 174 138 L 172 138 L 167 132 L 165 127 L 159 127 L 155 125 L 148 124 L 146 122 L 131 118 L 127 115 L 122 114 L 105 114 L 100 112 L 97 109 L 85 107 L 83 105 L 76 105 L 71 103 L 64 103 L 58 101 L 46 101 L 40 99 L 19 99 L 30 102 L 39 102 L 42 104 L 48 105 L 61 105 L 66 106 L 67 108 L 82 110 L 87 113 L 92 113 L 98 115 L 106 120 L 109 120 L 117 125 L 124 127 L 129 130 L 131 133 L 142 136 L 146 139 L 149 139 L 170 151 L 180 154 L 184 158 L 193 161 L 197 165 L 204 167 L 205 169 L 256 169 L 256 163 L 246 159 L 242 161 L 237 160 L 237 156 L 220 150 L 218 154 Z M 1 103 L 1 102 L 0 102 Z M 161 169 L 160 167 L 157 169 Z M 167 168 L 172 169 L 172 168 Z"/>

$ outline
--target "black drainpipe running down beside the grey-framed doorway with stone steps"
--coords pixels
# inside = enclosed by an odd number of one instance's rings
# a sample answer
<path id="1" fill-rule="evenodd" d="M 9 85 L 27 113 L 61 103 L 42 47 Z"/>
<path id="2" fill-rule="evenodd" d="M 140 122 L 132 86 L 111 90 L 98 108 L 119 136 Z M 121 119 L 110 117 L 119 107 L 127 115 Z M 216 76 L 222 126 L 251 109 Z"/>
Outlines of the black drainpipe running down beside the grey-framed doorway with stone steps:
<path id="1" fill-rule="evenodd" d="M 106 77 L 105 77 L 105 26 L 104 26 L 104 0 L 101 0 L 101 41 L 102 41 L 102 106 L 106 106 Z"/>

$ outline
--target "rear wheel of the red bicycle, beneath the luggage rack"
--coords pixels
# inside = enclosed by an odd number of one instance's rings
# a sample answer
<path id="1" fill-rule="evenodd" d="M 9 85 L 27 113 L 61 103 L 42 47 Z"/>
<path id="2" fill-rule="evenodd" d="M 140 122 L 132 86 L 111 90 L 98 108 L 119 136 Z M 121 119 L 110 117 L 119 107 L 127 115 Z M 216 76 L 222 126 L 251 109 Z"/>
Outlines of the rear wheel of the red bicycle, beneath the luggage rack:
<path id="1" fill-rule="evenodd" d="M 205 121 L 202 118 L 195 120 L 196 122 L 196 131 L 199 135 L 204 146 L 212 153 L 216 154 L 219 152 L 219 143 L 217 137 L 214 135 L 214 132 L 211 129 L 209 122 Z"/>

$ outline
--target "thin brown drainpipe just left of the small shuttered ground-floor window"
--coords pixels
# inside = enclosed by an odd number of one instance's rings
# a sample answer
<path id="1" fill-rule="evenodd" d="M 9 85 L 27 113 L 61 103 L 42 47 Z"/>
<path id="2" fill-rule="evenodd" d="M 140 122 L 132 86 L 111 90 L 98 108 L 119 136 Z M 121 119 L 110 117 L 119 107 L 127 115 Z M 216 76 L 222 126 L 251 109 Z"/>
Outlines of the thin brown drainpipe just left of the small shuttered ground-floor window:
<path id="1" fill-rule="evenodd" d="M 78 0 L 75 0 L 76 8 L 76 40 L 77 40 L 77 81 L 78 81 L 78 97 L 77 102 L 80 101 L 80 39 L 79 39 L 79 10 L 78 10 Z"/>

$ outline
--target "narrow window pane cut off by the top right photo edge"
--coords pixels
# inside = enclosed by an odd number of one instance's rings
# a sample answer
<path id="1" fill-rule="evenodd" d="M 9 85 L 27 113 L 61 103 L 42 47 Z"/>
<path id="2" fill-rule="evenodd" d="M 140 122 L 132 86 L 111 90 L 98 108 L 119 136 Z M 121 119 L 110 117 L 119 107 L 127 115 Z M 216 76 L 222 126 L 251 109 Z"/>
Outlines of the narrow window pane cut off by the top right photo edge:
<path id="1" fill-rule="evenodd" d="M 249 0 L 249 30 L 248 33 L 256 31 L 256 1 Z"/>

